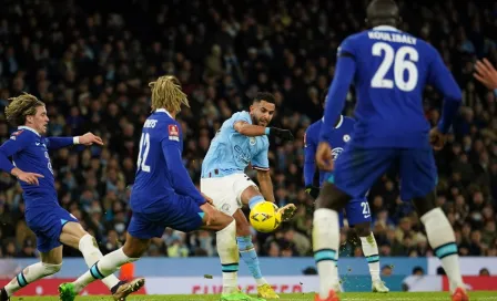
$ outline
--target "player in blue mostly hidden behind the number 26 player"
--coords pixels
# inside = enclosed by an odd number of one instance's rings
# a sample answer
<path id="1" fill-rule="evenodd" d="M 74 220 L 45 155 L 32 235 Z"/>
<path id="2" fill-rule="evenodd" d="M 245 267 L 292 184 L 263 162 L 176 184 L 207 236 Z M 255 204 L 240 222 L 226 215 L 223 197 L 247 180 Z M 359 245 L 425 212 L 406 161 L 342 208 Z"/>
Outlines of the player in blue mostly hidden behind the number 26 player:
<path id="1" fill-rule="evenodd" d="M 324 91 L 322 100 L 323 103 L 326 100 L 327 90 Z M 355 121 L 351 117 L 344 117 L 339 115 L 338 121 L 335 123 L 335 128 L 333 134 L 329 136 L 328 144 L 333 146 L 332 155 L 333 160 L 339 156 L 343 152 L 345 144 L 351 141 L 352 131 L 354 128 Z M 310 194 L 313 198 L 317 198 L 320 194 L 320 188 L 313 185 L 314 174 L 316 172 L 316 149 L 320 142 L 320 134 L 323 127 L 323 120 L 320 120 L 307 128 L 304 136 L 304 153 L 305 153 L 305 164 L 304 164 L 304 181 L 305 191 Z M 328 179 L 332 173 L 320 172 L 320 187 L 323 181 Z M 379 278 L 379 253 L 378 246 L 376 245 L 376 239 L 371 231 L 371 211 L 369 204 L 367 203 L 366 196 L 355 198 L 351 200 L 345 206 L 345 211 L 347 214 L 347 220 L 352 228 L 355 229 L 358 237 L 361 238 L 361 245 L 363 247 L 363 253 L 366 257 L 367 264 L 369 266 L 369 273 L 372 278 L 372 290 L 373 292 L 388 292 L 388 288 Z M 343 227 L 343 211 L 339 211 L 339 225 Z M 336 253 L 338 256 L 338 252 Z M 338 279 L 333 279 L 333 283 L 336 284 L 335 291 L 341 291 Z"/>

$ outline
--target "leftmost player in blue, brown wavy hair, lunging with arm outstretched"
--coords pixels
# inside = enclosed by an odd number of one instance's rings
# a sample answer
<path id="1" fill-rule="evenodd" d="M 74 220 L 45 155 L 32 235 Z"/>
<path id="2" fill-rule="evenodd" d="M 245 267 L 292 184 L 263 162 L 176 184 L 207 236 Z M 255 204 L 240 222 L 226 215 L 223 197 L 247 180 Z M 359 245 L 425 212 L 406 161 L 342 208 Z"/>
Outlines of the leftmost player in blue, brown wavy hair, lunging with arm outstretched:
<path id="1" fill-rule="evenodd" d="M 2 288 L 0 301 L 8 301 L 26 286 L 57 273 L 62 267 L 62 245 L 80 250 L 89 267 L 102 258 L 95 239 L 74 216 L 59 206 L 49 156 L 49 150 L 73 144 L 103 145 L 102 139 L 91 133 L 79 137 L 43 137 L 49 123 L 44 103 L 27 93 L 9 101 L 6 117 L 18 125 L 18 131 L 0 146 L 0 169 L 19 179 L 26 204 L 26 222 L 37 236 L 41 262 L 29 266 Z M 114 300 L 121 300 L 143 286 L 141 280 L 126 283 L 113 274 L 102 281 Z"/>

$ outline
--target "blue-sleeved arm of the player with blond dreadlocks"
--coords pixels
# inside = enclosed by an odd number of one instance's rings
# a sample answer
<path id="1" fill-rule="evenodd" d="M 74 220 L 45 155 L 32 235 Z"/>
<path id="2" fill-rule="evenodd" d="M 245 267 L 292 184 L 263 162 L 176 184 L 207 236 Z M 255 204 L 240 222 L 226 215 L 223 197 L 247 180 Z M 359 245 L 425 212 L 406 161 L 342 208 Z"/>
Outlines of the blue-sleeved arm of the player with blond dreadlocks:
<path id="1" fill-rule="evenodd" d="M 168 137 L 162 139 L 162 153 L 165 157 L 165 163 L 171 172 L 173 179 L 173 188 L 176 194 L 190 196 L 196 200 L 199 205 L 206 203 L 205 198 L 201 195 L 195 185 L 193 185 L 192 179 L 183 165 L 181 158 L 180 143 L 175 141 L 170 141 Z"/>

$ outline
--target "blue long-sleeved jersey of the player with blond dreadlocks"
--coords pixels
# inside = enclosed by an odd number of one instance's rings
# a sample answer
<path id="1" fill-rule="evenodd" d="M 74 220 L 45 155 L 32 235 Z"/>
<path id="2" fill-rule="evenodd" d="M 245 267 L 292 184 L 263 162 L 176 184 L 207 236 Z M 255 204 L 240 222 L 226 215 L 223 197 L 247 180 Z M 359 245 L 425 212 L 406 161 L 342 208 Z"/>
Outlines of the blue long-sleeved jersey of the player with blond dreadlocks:
<path id="1" fill-rule="evenodd" d="M 183 165 L 182 152 L 180 124 L 165 110 L 155 110 L 145 121 L 140 138 L 130 199 L 133 211 L 160 211 L 176 194 L 191 196 L 200 205 L 205 203 Z"/>

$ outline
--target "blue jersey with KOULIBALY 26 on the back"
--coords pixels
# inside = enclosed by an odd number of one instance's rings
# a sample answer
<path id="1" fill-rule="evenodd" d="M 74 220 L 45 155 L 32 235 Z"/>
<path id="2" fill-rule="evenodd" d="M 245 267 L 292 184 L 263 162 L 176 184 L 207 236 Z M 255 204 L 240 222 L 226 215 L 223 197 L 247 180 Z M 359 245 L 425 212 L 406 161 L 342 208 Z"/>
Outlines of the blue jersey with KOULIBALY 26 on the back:
<path id="1" fill-rule="evenodd" d="M 337 64 L 334 79 L 337 83 L 332 84 L 328 97 L 344 101 L 344 91 L 348 90 L 345 82 L 353 76 L 357 122 L 352 145 L 428 148 L 429 123 L 423 106 L 425 85 L 435 85 L 446 97 L 460 98 L 460 90 L 436 49 L 395 28 L 376 27 L 348 37 L 338 48 L 338 56 L 352 58 L 355 70 L 346 70 L 344 64 L 338 72 Z M 343 107 L 327 104 L 326 112 L 336 111 L 325 113 L 329 117 L 337 116 L 337 110 Z M 326 133 L 322 134 L 324 139 Z"/>

